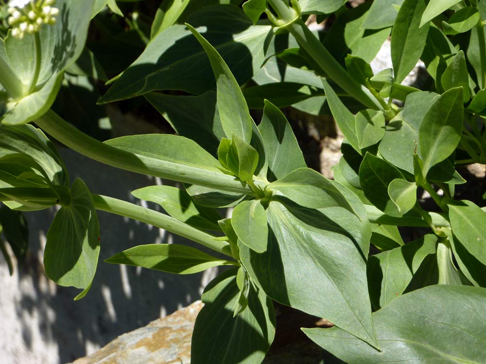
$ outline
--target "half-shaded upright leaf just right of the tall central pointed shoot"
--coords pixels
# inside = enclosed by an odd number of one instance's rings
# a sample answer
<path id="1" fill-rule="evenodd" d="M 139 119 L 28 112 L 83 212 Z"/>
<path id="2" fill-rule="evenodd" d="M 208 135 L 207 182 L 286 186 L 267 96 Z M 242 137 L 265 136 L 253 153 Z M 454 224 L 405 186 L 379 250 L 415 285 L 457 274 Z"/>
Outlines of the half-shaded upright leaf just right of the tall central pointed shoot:
<path id="1" fill-rule="evenodd" d="M 304 156 L 287 118 L 268 100 L 265 100 L 258 129 L 268 158 L 269 181 L 278 180 L 295 169 L 306 167 Z"/>

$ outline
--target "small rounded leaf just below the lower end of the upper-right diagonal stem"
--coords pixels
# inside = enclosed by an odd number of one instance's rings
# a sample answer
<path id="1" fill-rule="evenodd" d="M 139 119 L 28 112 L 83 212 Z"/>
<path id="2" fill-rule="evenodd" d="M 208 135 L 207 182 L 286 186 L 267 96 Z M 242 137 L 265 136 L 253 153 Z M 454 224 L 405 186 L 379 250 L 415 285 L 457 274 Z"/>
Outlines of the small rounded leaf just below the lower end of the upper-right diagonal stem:
<path id="1" fill-rule="evenodd" d="M 356 114 L 356 136 L 361 149 L 377 144 L 385 135 L 382 111 L 366 109 Z"/>

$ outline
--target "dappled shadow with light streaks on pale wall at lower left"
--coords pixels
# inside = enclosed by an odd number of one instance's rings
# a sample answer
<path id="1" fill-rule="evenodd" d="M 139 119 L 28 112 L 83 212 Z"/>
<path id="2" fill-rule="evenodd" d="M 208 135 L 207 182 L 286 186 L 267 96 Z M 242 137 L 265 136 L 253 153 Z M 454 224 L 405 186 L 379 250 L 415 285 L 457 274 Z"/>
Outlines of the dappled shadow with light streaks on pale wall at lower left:
<path id="1" fill-rule="evenodd" d="M 83 177 L 93 193 L 139 203 L 127 188 L 160 183 L 158 179 L 87 160 L 70 150 L 62 150 L 61 154 L 72 180 Z M 145 205 L 143 202 L 141 204 Z M 150 204 L 149 207 L 161 211 L 158 205 Z M 6 280 L 18 280 L 15 283 L 18 292 L 9 293 L 12 294 L 9 305 L 12 305 L 10 310 L 16 312 L 18 322 L 15 325 L 19 334 L 18 337 L 13 334 L 9 338 L 9 346 L 16 345 L 13 349 L 24 351 L 25 355 L 32 355 L 30 352 L 38 355 L 36 347 L 39 345 L 47 347 L 44 351 L 51 353 L 48 359 L 35 357 L 30 360 L 32 364 L 62 364 L 85 356 L 122 333 L 145 326 L 161 315 L 171 314 L 199 299 L 202 287 L 215 276 L 214 269 L 177 276 L 104 263 L 104 259 L 141 244 L 177 242 L 201 247 L 160 229 L 98 212 L 101 252 L 97 272 L 87 296 L 73 301 L 80 290 L 56 286 L 48 281 L 41 263 L 45 235 L 55 213 L 56 209 L 51 208 L 25 214 L 30 225 L 30 253 L 26 263 L 19 267 L 18 274 L 5 277 Z M 3 260 L 1 265 L 5 265 Z M 6 309 L 4 307 L 2 310 Z M 56 348 L 58 361 L 54 361 Z"/>

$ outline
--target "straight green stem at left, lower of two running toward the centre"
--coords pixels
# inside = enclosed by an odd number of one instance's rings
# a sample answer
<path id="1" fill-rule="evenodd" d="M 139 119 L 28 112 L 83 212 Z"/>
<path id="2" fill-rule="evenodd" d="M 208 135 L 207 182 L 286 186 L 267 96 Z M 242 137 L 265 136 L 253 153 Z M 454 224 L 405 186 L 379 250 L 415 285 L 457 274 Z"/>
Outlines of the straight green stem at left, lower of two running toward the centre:
<path id="1" fill-rule="evenodd" d="M 97 210 L 129 217 L 156 226 L 157 228 L 191 239 L 209 249 L 231 256 L 229 243 L 215 240 L 213 235 L 195 229 L 190 225 L 174 219 L 174 217 L 119 199 L 95 194 L 92 194 L 91 196 L 93 198 L 94 207 Z"/>

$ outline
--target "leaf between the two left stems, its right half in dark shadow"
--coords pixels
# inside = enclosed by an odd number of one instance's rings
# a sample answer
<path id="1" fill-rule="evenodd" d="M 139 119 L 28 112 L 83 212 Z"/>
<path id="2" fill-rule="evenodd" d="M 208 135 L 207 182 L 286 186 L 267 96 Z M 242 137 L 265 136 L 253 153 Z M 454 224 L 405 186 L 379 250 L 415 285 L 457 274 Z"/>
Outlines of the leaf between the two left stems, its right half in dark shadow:
<path id="1" fill-rule="evenodd" d="M 221 216 L 212 208 L 194 204 L 191 196 L 172 186 L 148 186 L 132 191 L 137 199 L 155 202 L 162 206 L 167 214 L 194 228 L 220 230 L 218 220 Z"/>

